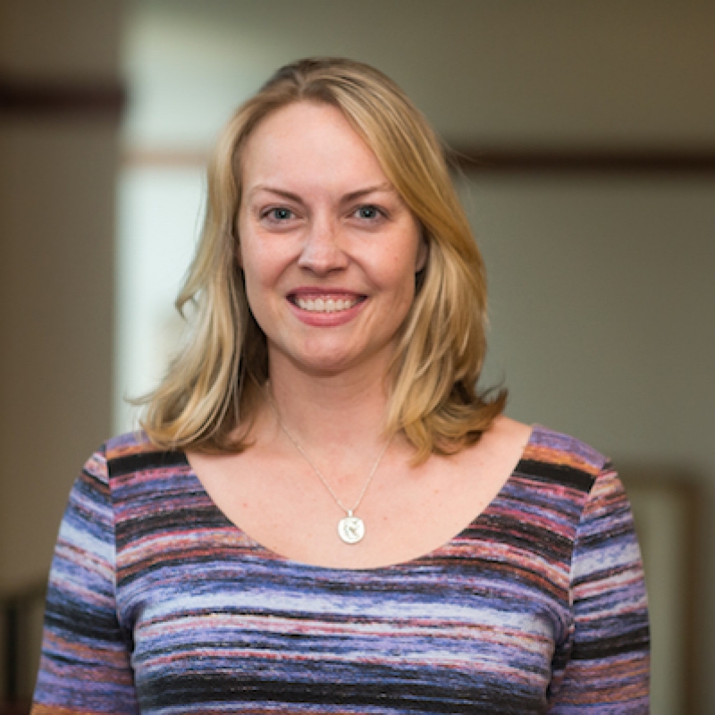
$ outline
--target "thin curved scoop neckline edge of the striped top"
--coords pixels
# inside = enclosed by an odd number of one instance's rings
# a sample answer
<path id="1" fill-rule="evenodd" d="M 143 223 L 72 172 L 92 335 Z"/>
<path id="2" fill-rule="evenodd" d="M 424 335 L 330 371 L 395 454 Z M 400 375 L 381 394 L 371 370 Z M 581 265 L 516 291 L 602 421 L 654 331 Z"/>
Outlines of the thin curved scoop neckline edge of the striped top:
<path id="1" fill-rule="evenodd" d="M 442 543 L 440 546 L 435 547 L 431 551 L 427 551 L 424 554 L 421 554 L 419 556 L 414 557 L 413 559 L 407 559 L 404 561 L 397 561 L 393 564 L 386 564 L 384 566 L 375 566 L 375 567 L 364 567 L 364 568 L 349 568 L 347 566 L 322 566 L 320 564 L 311 564 L 308 563 L 307 561 L 300 561 L 298 559 L 291 559 L 288 556 L 285 556 L 281 553 L 278 553 L 278 551 L 273 551 L 273 549 L 270 549 L 269 547 L 265 546 L 263 543 L 260 543 L 255 539 L 253 536 L 248 534 L 245 529 L 241 528 L 238 524 L 235 524 L 231 518 L 229 518 L 221 509 L 218 504 L 212 499 L 211 495 L 206 492 L 206 488 L 204 487 L 204 484 L 201 482 L 201 480 L 198 478 L 198 475 L 196 471 L 194 470 L 194 467 L 191 466 L 191 463 L 189 462 L 189 458 L 187 457 L 187 454 L 184 450 L 181 450 L 181 456 L 183 457 L 183 460 L 186 464 L 186 467 L 188 469 L 188 474 L 191 476 L 191 478 L 198 484 L 198 488 L 200 490 L 200 493 L 203 495 L 203 497 L 206 499 L 206 501 L 211 505 L 211 509 L 213 509 L 217 514 L 221 516 L 223 519 L 223 522 L 225 522 L 226 526 L 229 526 L 231 528 L 231 531 L 235 534 L 239 534 L 241 539 L 248 543 L 248 547 L 253 551 L 257 558 L 262 559 L 265 562 L 270 562 L 275 565 L 279 565 L 284 568 L 290 568 L 292 570 L 307 570 L 311 571 L 315 574 L 318 573 L 324 573 L 324 574 L 353 574 L 353 575 L 369 575 L 369 574 L 377 574 L 379 572 L 394 572 L 398 570 L 403 570 L 406 568 L 416 568 L 422 565 L 425 565 L 425 563 L 428 563 L 429 561 L 432 561 L 434 559 L 438 559 L 440 556 L 441 551 L 448 551 L 450 547 L 455 545 L 458 541 L 464 538 L 464 535 L 467 534 L 470 530 L 475 528 L 475 525 L 481 521 L 485 515 L 492 511 L 494 504 L 496 504 L 498 501 L 501 501 L 503 498 L 504 492 L 506 492 L 511 483 L 514 481 L 516 478 L 517 473 L 519 472 L 519 467 L 522 466 L 522 463 L 526 460 L 526 453 L 527 451 L 534 446 L 534 443 L 536 442 L 537 439 L 537 433 L 543 432 L 543 426 L 542 425 L 531 425 L 531 433 L 529 433 L 529 439 L 524 445 L 524 448 L 521 451 L 521 455 L 518 458 L 516 466 L 511 470 L 511 473 L 509 476 L 506 478 L 503 484 L 501 484 L 501 487 L 499 491 L 492 497 L 492 500 L 489 501 L 489 503 L 482 509 L 479 514 L 477 514 L 471 521 L 467 524 L 467 526 L 464 526 L 458 534 L 454 534 L 448 541 L 445 543 Z"/>

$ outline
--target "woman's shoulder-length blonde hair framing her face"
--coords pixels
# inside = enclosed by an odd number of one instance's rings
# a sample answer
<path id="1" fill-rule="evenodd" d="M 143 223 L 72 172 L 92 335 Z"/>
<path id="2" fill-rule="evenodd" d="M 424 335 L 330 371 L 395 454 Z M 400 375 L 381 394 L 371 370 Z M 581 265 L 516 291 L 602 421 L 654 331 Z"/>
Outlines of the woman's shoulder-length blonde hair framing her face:
<path id="1" fill-rule="evenodd" d="M 300 101 L 341 110 L 416 216 L 428 247 L 387 375 L 384 433 L 403 431 L 416 463 L 458 451 L 479 439 L 506 402 L 505 391 L 489 399 L 476 390 L 486 349 L 484 262 L 423 115 L 382 72 L 335 58 L 282 67 L 224 128 L 208 171 L 202 238 L 176 301 L 181 315 L 188 304 L 195 308 L 189 340 L 164 382 L 141 400 L 141 425 L 166 449 L 248 446 L 268 351 L 237 260 L 240 157 L 259 122 Z"/>

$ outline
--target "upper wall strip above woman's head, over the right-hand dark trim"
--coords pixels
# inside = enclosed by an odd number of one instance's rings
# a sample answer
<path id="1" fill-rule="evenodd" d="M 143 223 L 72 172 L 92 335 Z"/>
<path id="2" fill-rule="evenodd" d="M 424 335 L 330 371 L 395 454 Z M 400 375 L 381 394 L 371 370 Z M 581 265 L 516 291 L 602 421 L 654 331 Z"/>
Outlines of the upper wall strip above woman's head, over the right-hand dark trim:
<path id="1" fill-rule="evenodd" d="M 280 63 L 397 80 L 456 143 L 715 144 L 709 0 L 133 0 L 132 145 L 206 146 Z"/>

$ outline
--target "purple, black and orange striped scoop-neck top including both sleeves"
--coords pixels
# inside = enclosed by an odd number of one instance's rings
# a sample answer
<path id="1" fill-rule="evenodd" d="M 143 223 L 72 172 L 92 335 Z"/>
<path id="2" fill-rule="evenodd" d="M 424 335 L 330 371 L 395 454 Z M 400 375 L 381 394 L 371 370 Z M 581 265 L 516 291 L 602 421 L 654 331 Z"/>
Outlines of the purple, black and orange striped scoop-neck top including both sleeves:
<path id="1" fill-rule="evenodd" d="M 183 452 L 125 435 L 71 492 L 32 712 L 648 712 L 649 633 L 618 476 L 534 429 L 449 543 L 374 569 L 253 541 Z"/>

